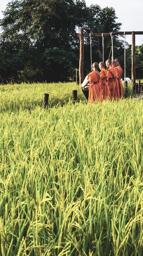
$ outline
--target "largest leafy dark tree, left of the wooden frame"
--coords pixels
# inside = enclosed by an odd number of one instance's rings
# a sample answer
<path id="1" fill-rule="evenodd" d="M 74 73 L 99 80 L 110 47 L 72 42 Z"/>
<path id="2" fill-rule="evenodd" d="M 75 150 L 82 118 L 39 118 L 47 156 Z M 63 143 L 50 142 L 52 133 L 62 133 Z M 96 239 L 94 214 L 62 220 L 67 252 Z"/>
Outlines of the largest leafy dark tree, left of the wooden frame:
<path id="1" fill-rule="evenodd" d="M 20 51 L 24 53 L 23 63 L 21 56 L 15 61 L 15 73 L 29 63 L 39 72 L 41 80 L 69 77 L 67 73 L 72 72 L 72 65 L 77 61 L 72 51 L 77 42 L 73 32 L 88 16 L 85 1 L 15 0 L 7 5 L 3 14 L 1 49 L 16 58 Z M 57 56 L 63 58 L 59 61 Z"/>

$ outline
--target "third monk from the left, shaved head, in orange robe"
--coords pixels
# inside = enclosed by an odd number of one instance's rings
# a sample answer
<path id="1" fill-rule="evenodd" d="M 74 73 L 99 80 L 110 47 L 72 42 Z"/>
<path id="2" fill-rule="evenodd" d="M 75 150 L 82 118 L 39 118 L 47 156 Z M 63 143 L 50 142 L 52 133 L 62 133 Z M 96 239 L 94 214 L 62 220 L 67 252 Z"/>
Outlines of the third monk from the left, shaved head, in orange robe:
<path id="1" fill-rule="evenodd" d="M 112 101 L 112 99 L 116 98 L 116 87 L 115 87 L 116 73 L 115 73 L 114 67 L 112 67 L 112 63 L 110 59 L 106 60 L 106 67 L 108 67 L 107 77 L 106 77 L 107 95 L 108 95 L 108 100 Z"/>

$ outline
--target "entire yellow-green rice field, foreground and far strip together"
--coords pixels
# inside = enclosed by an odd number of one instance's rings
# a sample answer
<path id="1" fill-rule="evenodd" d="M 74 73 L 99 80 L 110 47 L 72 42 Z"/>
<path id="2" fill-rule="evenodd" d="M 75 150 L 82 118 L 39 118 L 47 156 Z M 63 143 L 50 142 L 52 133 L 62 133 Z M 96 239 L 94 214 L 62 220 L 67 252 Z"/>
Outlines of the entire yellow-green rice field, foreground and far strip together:
<path id="1" fill-rule="evenodd" d="M 143 100 L 0 85 L 0 256 L 141 255 Z"/>

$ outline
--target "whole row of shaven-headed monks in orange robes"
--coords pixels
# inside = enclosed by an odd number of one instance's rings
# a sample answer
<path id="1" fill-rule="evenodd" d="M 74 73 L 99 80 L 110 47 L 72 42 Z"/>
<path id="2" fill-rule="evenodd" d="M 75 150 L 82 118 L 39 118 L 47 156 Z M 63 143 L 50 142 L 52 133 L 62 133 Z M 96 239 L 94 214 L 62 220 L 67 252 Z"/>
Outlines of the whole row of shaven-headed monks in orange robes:
<path id="1" fill-rule="evenodd" d="M 105 64 L 107 70 L 105 69 Z M 101 61 L 99 65 L 94 62 L 92 70 L 86 77 L 86 81 L 82 83 L 82 92 L 85 94 L 88 103 L 93 103 L 94 101 L 102 102 L 106 99 L 109 101 L 117 98 L 124 99 L 123 85 L 121 83 L 123 70 L 117 58 L 113 61 L 108 59 L 106 63 Z"/>

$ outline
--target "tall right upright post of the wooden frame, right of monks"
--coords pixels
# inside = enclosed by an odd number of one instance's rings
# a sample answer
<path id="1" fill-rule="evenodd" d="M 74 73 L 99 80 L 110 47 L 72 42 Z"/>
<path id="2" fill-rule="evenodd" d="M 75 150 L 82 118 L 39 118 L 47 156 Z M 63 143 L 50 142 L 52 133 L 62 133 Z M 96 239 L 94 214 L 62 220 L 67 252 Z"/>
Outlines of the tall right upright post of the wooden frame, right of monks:
<path id="1" fill-rule="evenodd" d="M 135 34 L 132 31 L 132 92 L 134 93 L 136 84 L 136 57 L 135 57 Z"/>

